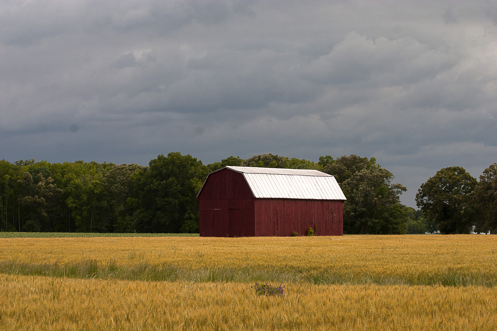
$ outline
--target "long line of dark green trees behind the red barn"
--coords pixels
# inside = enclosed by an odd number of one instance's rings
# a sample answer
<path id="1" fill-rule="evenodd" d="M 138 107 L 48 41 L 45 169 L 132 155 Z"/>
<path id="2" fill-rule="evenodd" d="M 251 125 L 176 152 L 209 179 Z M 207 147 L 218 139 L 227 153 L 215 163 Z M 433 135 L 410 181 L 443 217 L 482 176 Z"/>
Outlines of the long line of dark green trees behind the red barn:
<path id="1" fill-rule="evenodd" d="M 147 167 L 0 160 L 0 231 L 195 233 L 196 195 L 210 171 L 227 165 L 315 169 L 335 176 L 347 198 L 343 228 L 348 234 L 424 233 L 437 228 L 464 233 L 471 225 L 492 231 L 496 227 L 495 164 L 480 182 L 464 182 L 464 190 L 453 192 L 464 198 L 450 200 L 445 209 L 444 202 L 437 205 L 436 199 L 429 199 L 436 194 L 423 184 L 416 196 L 420 210 L 414 210 L 400 202 L 406 187 L 392 183 L 394 175 L 374 157 L 326 155 L 314 162 L 260 154 L 204 165 L 191 155 L 173 152 L 159 155 Z"/>

